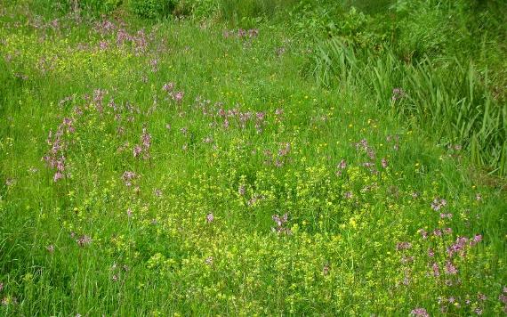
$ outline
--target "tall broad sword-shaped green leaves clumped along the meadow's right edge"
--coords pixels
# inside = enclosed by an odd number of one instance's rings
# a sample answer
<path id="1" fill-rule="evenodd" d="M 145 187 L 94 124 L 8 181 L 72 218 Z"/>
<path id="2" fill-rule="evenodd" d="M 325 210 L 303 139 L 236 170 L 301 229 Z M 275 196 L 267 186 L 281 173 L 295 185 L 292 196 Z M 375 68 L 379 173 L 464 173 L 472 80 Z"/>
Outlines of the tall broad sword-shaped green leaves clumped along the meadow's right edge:
<path id="1" fill-rule="evenodd" d="M 479 74 L 473 63 L 426 58 L 411 64 L 392 52 L 354 50 L 332 38 L 318 45 L 313 73 L 326 86 L 360 86 L 381 108 L 463 145 L 488 173 L 507 172 L 506 105 L 492 97 L 487 72 Z"/>

